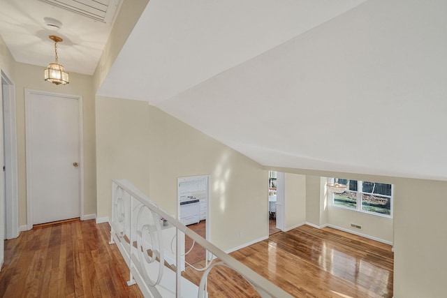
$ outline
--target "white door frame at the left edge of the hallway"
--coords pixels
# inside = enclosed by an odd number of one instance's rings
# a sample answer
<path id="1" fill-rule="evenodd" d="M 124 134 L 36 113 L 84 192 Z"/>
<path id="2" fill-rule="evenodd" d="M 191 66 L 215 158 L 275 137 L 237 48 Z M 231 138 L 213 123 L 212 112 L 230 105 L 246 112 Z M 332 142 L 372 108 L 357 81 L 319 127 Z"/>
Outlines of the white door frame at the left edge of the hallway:
<path id="1" fill-rule="evenodd" d="M 5 147 L 5 203 L 6 203 L 6 239 L 19 236 L 19 209 L 17 186 L 17 129 L 15 126 L 15 87 L 6 73 L 1 70 L 1 88 L 3 91 L 3 135 Z"/>

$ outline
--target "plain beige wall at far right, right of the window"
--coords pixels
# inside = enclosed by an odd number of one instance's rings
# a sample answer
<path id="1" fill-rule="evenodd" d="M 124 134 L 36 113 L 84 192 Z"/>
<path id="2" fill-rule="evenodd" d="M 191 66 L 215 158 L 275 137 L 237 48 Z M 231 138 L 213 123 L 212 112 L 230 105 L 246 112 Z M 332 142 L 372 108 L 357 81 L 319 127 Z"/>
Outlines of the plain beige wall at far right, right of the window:
<path id="1" fill-rule="evenodd" d="M 446 297 L 446 202 L 446 181 L 395 181 L 395 298 Z"/>

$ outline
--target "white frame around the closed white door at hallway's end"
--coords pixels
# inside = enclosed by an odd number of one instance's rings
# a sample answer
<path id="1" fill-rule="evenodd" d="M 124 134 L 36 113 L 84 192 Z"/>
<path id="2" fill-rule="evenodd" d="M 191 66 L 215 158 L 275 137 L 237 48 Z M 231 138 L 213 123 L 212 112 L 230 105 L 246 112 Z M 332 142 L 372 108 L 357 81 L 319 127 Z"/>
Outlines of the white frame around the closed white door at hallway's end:
<path id="1" fill-rule="evenodd" d="M 64 98 L 73 98 L 78 100 L 78 121 L 79 121 L 79 201 L 80 201 L 80 219 L 84 219 L 84 131 L 82 123 L 82 96 L 61 94 L 49 91 L 41 91 L 25 88 L 25 139 L 26 139 L 26 164 L 31 164 L 31 94 L 40 94 L 45 96 L 59 96 Z M 31 167 L 27 166 L 27 228 L 31 230 L 33 228 L 33 200 L 32 200 L 32 187 L 31 187 Z"/>

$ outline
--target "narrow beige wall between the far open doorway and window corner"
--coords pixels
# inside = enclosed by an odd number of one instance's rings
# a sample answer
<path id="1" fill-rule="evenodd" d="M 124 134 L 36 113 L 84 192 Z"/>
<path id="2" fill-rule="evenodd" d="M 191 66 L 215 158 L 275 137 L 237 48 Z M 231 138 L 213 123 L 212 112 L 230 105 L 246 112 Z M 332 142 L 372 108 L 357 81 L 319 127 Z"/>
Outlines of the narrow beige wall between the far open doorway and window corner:
<path id="1" fill-rule="evenodd" d="M 306 176 L 285 174 L 284 228 L 290 230 L 306 222 Z"/>

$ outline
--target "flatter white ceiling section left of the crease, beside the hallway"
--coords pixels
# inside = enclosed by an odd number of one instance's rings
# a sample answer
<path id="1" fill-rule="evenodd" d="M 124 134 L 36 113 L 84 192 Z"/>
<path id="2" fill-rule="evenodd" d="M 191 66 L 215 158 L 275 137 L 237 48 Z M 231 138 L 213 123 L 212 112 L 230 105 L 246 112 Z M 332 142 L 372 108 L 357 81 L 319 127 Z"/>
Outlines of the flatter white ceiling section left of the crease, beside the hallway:
<path id="1" fill-rule="evenodd" d="M 151 0 L 98 94 L 159 103 L 364 1 Z"/>

